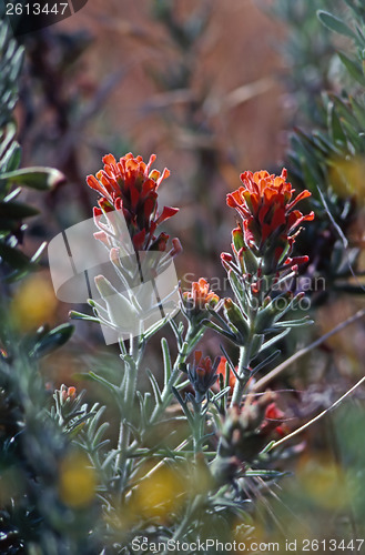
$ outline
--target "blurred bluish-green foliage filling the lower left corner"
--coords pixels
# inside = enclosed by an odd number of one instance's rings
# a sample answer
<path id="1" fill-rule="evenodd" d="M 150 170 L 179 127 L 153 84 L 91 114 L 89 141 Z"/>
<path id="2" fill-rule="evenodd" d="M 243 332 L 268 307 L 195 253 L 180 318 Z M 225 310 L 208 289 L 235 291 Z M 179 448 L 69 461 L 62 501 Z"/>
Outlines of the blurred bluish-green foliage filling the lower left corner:
<path id="1" fill-rule="evenodd" d="M 91 555 L 98 543 L 89 526 L 97 513 L 89 507 L 85 518 L 62 500 L 60 463 L 74 447 L 52 418 L 39 367 L 23 347 L 9 334 L 0 356 L 0 549 Z"/>

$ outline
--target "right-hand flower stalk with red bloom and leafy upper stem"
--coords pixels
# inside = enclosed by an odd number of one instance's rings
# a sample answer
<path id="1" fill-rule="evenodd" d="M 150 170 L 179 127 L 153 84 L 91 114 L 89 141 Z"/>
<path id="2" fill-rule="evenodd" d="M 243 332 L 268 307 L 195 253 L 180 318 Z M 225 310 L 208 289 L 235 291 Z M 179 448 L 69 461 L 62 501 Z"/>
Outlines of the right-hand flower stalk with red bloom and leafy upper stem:
<path id="1" fill-rule="evenodd" d="M 313 212 L 303 215 L 295 208 L 311 193 L 302 191 L 293 199 L 286 170 L 280 176 L 265 171 L 245 172 L 241 180 L 243 186 L 227 195 L 227 205 L 241 216 L 239 226 L 232 231 L 233 255 L 221 255 L 235 300 L 225 299 L 223 316 L 217 323 L 207 323 L 240 346 L 232 405 L 240 405 L 250 377 L 257 371 L 250 367 L 251 361 L 291 327 L 307 323 L 306 316 L 288 321 L 282 317 L 295 310 L 303 296 L 302 292 L 293 295 L 287 291 L 285 282 L 297 272 L 298 264 L 308 262 L 307 256 L 291 254 L 300 224 L 314 218 Z"/>

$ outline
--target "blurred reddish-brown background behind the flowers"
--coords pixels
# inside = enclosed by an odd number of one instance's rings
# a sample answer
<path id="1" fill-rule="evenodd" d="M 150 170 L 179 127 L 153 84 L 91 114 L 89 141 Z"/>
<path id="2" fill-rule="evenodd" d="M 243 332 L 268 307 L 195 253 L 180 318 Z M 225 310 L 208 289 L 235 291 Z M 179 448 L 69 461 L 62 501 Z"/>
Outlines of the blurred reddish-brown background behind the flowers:
<path id="1" fill-rule="evenodd" d="M 345 7 L 341 0 L 92 0 L 71 18 L 21 36 L 26 64 L 16 117 L 22 165 L 53 167 L 67 178 L 47 194 L 24 194 L 41 209 L 29 221 L 26 251 L 91 216 L 97 195 L 85 176 L 102 167 L 102 155 L 132 151 L 148 160 L 154 152 L 154 165 L 172 172 L 161 186 L 160 206 L 180 208 L 166 231 L 184 249 L 175 261 L 182 285 L 186 274 L 191 281 L 222 279 L 220 253 L 230 250 L 235 225 L 225 195 L 240 186 L 240 173 L 291 167 L 292 130 L 323 123 L 321 92 L 339 93 L 347 84 L 353 94 L 362 93 L 346 83 L 335 54 L 335 48 L 349 48 L 348 39 L 331 34 L 316 17 L 320 8 L 342 13 Z M 361 249 L 364 214 L 356 202 L 344 228 Z M 331 233 L 327 220 L 320 231 Z M 303 248 L 311 245 L 315 254 L 320 235 L 305 233 Z M 334 241 L 328 244 L 333 249 Z M 326 260 L 331 253 L 316 254 Z M 57 301 L 47 260 L 43 265 L 13 286 L 11 310 L 23 332 L 44 321 L 64 322 L 70 309 L 80 309 Z M 362 305 L 358 294 L 326 291 L 313 302 L 316 326 L 291 335 L 284 354 Z M 364 373 L 364 323 L 348 327 L 277 382 L 294 390 L 283 394 L 290 427 L 328 407 Z M 207 334 L 204 347 L 220 354 L 214 335 Z M 150 349 L 148 364 L 159 373 L 158 341 Z M 107 350 L 97 326 L 78 323 L 71 342 L 44 361 L 43 372 L 50 387 L 73 385 L 80 380 L 75 374 L 92 365 L 116 367 L 116 350 Z M 99 393 L 90 391 L 98 398 Z M 275 486 L 268 504 L 263 497 L 261 511 L 286 534 L 288 525 L 293 537 L 357 534 L 365 513 L 363 400 L 364 392 L 356 392 L 347 408 L 301 437 L 305 448 L 300 444 L 291 463 L 282 463 L 295 475 Z"/>

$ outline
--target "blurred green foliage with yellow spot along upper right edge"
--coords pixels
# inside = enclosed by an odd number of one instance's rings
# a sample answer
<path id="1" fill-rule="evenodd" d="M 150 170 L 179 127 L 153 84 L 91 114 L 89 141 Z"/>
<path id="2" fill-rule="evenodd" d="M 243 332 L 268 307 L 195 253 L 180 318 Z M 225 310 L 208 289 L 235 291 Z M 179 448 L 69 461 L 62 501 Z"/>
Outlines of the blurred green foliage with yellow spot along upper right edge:
<path id="1" fill-rule="evenodd" d="M 320 10 L 318 20 L 336 34 L 351 39 L 351 54 L 338 51 L 343 64 L 341 92 L 322 92 L 314 129 L 296 129 L 291 137 L 287 167 L 293 184 L 313 194 L 316 221 L 302 243 L 310 253 L 312 273 L 322 275 L 329 291 L 359 293 L 362 281 L 349 284 L 357 272 L 359 249 L 344 236 L 363 208 L 364 125 L 364 13 L 356 2 L 339 17 Z M 312 245 L 312 246 L 311 246 Z"/>

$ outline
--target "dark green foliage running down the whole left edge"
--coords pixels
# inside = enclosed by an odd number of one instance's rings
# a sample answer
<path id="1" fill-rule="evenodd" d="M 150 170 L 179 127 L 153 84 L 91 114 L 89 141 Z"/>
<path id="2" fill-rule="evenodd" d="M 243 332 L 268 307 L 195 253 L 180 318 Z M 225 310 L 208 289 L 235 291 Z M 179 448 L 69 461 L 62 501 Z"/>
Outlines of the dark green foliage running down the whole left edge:
<path id="1" fill-rule="evenodd" d="M 23 49 L 0 21 L 0 551 L 14 553 L 90 553 L 98 551 L 90 503 L 80 508 L 63 495 L 64 462 L 75 453 L 50 411 L 50 394 L 39 361 L 63 345 L 73 326 L 42 325 L 21 335 L 10 317 L 10 287 L 38 269 L 43 246 L 31 258 L 19 245 L 23 219 L 38 210 L 17 200 L 19 185 L 49 191 L 63 180 L 50 168 L 19 169 L 13 109 L 18 97 Z M 80 472 L 87 472 L 84 461 Z M 78 485 L 74 483 L 74 487 Z M 93 501 L 93 496 L 92 496 Z"/>

